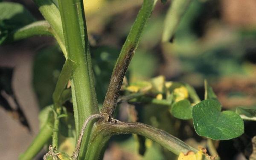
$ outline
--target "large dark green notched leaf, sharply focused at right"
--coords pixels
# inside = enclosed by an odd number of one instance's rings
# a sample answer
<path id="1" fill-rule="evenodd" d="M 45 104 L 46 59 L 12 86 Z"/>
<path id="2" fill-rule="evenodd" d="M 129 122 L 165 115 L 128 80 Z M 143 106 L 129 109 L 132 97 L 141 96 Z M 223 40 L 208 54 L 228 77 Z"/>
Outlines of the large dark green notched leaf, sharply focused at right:
<path id="1" fill-rule="evenodd" d="M 213 140 L 229 140 L 244 133 L 244 122 L 233 111 L 222 111 L 217 100 L 207 99 L 192 109 L 193 123 L 198 135 Z"/>

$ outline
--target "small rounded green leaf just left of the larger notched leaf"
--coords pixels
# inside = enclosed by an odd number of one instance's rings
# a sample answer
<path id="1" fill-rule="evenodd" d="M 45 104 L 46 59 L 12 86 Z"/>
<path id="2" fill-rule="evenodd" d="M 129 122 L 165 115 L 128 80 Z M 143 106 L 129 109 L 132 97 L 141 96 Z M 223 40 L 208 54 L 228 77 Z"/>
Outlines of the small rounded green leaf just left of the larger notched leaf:
<path id="1" fill-rule="evenodd" d="M 192 118 L 192 106 L 189 100 L 180 100 L 173 104 L 171 113 L 174 117 L 188 120 Z"/>

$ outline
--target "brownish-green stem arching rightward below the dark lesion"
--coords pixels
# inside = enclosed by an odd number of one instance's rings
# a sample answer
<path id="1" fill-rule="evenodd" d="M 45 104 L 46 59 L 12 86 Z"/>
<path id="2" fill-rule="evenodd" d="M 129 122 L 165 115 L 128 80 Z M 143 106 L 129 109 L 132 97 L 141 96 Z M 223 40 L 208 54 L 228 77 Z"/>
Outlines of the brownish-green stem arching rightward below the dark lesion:
<path id="1" fill-rule="evenodd" d="M 106 132 L 107 131 L 107 132 Z M 188 151 L 197 152 L 197 149 L 188 146 L 186 143 L 178 139 L 177 137 L 172 136 L 166 131 L 148 126 L 143 123 L 128 123 L 128 122 L 117 122 L 117 123 L 102 123 L 96 126 L 95 135 L 92 138 L 91 143 L 86 154 L 87 160 L 98 160 L 101 158 L 105 144 L 108 139 L 115 134 L 139 134 L 145 136 L 161 146 L 165 147 L 169 151 L 172 151 L 176 155 L 179 155 L 180 152 L 186 154 Z M 99 141 L 101 146 L 100 149 L 93 150 L 93 147 Z"/>

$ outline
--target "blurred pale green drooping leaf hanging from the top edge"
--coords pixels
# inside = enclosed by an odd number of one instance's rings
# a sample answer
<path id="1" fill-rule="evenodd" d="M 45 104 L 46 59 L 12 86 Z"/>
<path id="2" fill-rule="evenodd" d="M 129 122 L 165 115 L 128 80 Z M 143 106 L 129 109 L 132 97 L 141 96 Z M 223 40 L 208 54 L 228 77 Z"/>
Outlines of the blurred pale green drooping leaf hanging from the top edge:
<path id="1" fill-rule="evenodd" d="M 164 21 L 162 42 L 169 42 L 192 0 L 172 0 Z"/>

